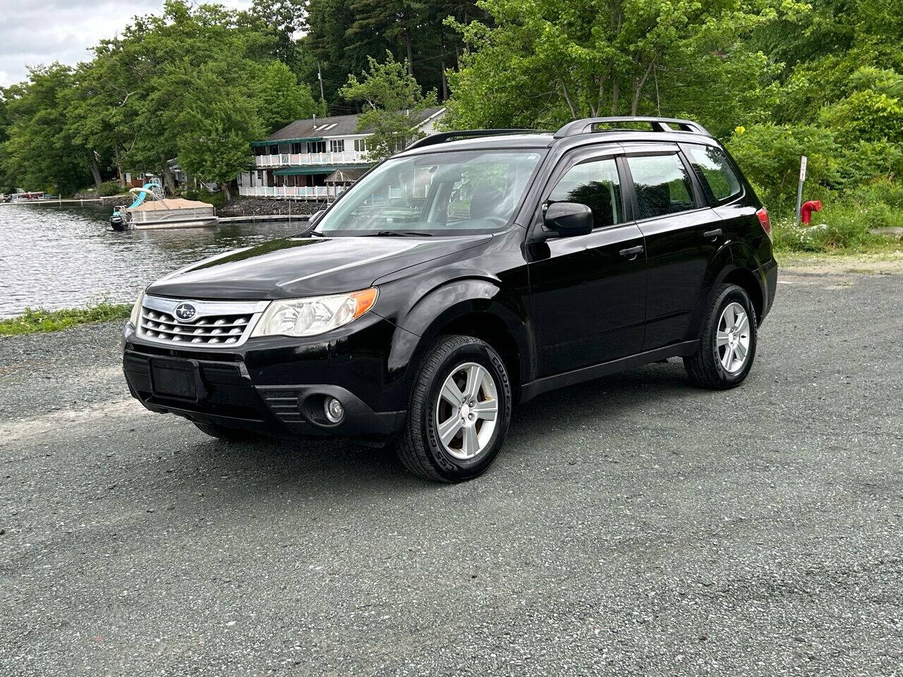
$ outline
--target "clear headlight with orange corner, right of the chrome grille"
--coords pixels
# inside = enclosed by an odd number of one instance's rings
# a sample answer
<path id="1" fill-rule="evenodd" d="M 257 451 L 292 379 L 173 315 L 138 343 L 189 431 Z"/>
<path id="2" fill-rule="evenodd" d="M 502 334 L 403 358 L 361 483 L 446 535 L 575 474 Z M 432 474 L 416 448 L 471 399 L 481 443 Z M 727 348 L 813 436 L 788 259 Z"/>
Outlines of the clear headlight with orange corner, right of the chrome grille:
<path id="1" fill-rule="evenodd" d="M 273 301 L 257 322 L 255 336 L 314 336 L 348 324 L 373 308 L 377 288 L 362 292 Z"/>

